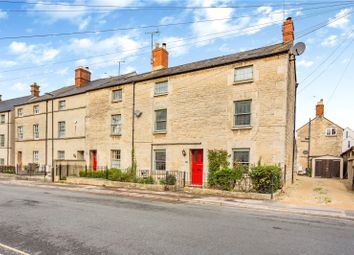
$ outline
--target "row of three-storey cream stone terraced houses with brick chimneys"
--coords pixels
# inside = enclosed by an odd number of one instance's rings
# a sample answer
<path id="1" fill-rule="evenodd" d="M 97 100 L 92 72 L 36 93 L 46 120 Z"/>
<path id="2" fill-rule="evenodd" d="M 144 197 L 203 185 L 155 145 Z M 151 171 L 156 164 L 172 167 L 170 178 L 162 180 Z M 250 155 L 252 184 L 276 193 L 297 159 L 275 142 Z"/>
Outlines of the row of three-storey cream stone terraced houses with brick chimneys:
<path id="1" fill-rule="evenodd" d="M 179 170 L 193 184 L 207 176 L 207 152 L 224 149 L 230 163 L 294 169 L 294 26 L 283 42 L 168 67 L 166 44 L 153 49 L 152 71 L 91 80 L 0 102 L 0 164 L 83 161 L 90 168 Z"/>

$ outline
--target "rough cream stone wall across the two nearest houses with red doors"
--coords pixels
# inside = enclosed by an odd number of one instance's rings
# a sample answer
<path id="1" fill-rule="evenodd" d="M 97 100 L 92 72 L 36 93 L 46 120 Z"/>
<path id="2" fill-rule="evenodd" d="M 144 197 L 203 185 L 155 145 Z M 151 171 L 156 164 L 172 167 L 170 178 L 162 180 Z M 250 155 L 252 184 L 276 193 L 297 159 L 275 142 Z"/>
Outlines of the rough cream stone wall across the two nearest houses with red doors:
<path id="1" fill-rule="evenodd" d="M 254 66 L 254 80 L 234 84 L 234 68 Z M 168 170 L 191 171 L 191 149 L 203 149 L 204 178 L 209 149 L 249 148 L 250 163 L 287 165 L 291 178 L 294 73 L 288 55 L 180 74 L 135 84 L 135 157 L 138 169 L 152 169 L 153 151 L 166 149 Z M 167 95 L 154 96 L 155 82 L 168 80 Z M 110 165 L 110 150 L 121 149 L 121 167 L 131 165 L 133 84 L 121 86 L 123 100 L 112 103 L 111 91 L 88 93 L 88 150 L 99 164 Z M 252 100 L 251 126 L 233 127 L 234 101 Z M 167 132 L 154 132 L 155 110 L 167 109 Z M 111 115 L 122 114 L 122 135 L 110 135 Z M 183 156 L 182 151 L 187 155 Z M 230 158 L 230 162 L 232 159 Z"/>

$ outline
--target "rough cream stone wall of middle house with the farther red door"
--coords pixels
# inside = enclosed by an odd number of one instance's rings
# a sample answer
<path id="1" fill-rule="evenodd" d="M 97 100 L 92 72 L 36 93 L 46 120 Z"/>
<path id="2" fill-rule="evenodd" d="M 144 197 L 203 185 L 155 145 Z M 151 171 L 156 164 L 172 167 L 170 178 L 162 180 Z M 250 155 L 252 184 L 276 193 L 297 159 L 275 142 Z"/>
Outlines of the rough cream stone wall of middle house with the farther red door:
<path id="1" fill-rule="evenodd" d="M 112 102 L 112 91 L 122 89 L 122 101 Z M 121 150 L 121 168 L 131 165 L 132 137 L 132 98 L 131 85 L 116 86 L 88 93 L 86 118 L 86 151 L 97 152 L 99 166 L 111 166 L 111 151 Z M 112 135 L 111 116 L 121 114 L 121 135 Z M 88 164 L 91 160 L 88 158 Z"/>

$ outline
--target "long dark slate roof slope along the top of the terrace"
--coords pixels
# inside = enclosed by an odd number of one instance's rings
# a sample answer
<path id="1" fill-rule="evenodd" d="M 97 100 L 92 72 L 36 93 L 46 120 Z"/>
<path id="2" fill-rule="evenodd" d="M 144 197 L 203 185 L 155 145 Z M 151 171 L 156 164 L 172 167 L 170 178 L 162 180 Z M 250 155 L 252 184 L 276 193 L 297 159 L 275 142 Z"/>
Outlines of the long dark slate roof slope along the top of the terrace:
<path id="1" fill-rule="evenodd" d="M 98 90 L 98 89 L 112 87 L 112 86 L 116 86 L 116 85 L 123 85 L 123 84 L 128 84 L 128 83 L 133 83 L 133 82 L 146 81 L 146 80 L 156 79 L 156 78 L 160 78 L 160 77 L 182 74 L 182 73 L 186 73 L 186 72 L 193 72 L 193 71 L 197 71 L 197 70 L 201 70 L 201 69 L 218 67 L 218 66 L 222 66 L 222 65 L 245 61 L 245 60 L 258 59 L 258 58 L 283 54 L 283 53 L 289 52 L 291 46 L 292 46 L 291 43 L 286 43 L 286 44 L 279 43 L 279 44 L 274 44 L 271 46 L 266 46 L 266 47 L 262 47 L 262 48 L 258 48 L 258 49 L 254 49 L 254 50 L 249 50 L 249 51 L 234 53 L 234 54 L 225 55 L 225 56 L 221 56 L 221 57 L 201 60 L 201 61 L 197 61 L 197 62 L 193 62 L 193 63 L 189 63 L 189 64 L 169 67 L 169 68 L 161 69 L 158 71 L 147 72 L 147 73 L 143 73 L 143 74 L 137 74 L 137 73 L 133 72 L 133 73 L 125 74 L 125 75 L 120 75 L 120 76 L 115 76 L 115 77 L 110 77 L 110 78 L 105 78 L 105 79 L 98 79 L 98 80 L 91 81 L 80 88 L 77 88 L 75 86 L 63 87 L 61 89 L 58 89 L 58 90 L 55 90 L 55 91 L 52 91 L 51 93 L 49 93 L 49 94 L 53 94 L 53 97 L 45 94 L 41 97 L 34 98 L 33 100 L 31 100 L 27 103 L 40 102 L 40 101 L 45 101 L 45 100 L 52 99 L 52 98 L 55 99 L 55 98 L 73 96 L 73 95 L 82 94 L 82 93 L 85 93 L 88 91 Z M 26 102 L 20 103 L 18 105 L 21 105 L 21 104 L 26 104 Z"/>

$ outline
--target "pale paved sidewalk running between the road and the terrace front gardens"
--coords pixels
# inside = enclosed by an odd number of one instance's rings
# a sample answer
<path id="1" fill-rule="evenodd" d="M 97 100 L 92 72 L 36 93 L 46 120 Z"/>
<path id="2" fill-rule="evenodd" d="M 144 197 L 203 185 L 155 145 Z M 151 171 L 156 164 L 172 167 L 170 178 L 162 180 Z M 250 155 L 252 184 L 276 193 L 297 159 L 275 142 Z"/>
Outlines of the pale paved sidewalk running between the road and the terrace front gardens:
<path id="1" fill-rule="evenodd" d="M 354 220 L 354 210 L 329 208 L 319 206 L 292 205 L 282 201 L 231 199 L 214 196 L 200 196 L 183 192 L 158 192 L 149 190 L 108 188 L 91 185 L 68 185 L 65 183 L 44 183 L 38 181 L 0 179 L 0 183 L 8 185 L 35 186 L 46 189 L 63 189 L 77 192 L 87 192 L 101 195 L 123 196 L 136 199 L 163 201 L 168 203 L 189 203 L 214 205 L 235 208 L 247 208 L 252 210 L 266 210 L 286 212 L 302 215 L 314 215 L 322 217 L 334 217 Z"/>

